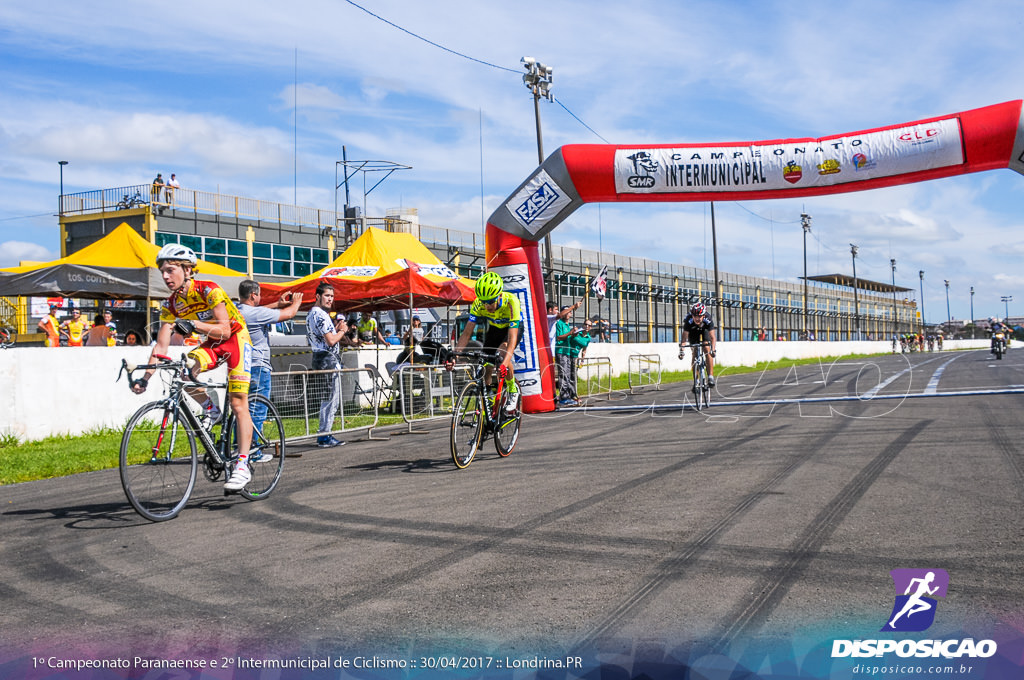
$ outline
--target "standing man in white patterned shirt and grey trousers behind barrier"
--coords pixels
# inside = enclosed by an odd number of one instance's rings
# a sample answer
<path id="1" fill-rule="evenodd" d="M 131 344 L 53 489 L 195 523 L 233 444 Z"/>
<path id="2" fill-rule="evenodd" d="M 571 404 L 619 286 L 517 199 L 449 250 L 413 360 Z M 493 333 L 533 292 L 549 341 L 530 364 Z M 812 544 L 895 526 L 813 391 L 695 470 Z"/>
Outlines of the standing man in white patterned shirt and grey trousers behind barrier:
<path id="1" fill-rule="evenodd" d="M 313 371 L 334 371 L 327 376 L 325 398 L 321 401 L 319 408 L 319 435 L 316 437 L 316 445 L 321 449 L 338 447 L 344 441 L 339 441 L 329 434 L 334 425 L 334 416 L 341 402 L 341 375 L 337 371 L 341 368 L 341 357 L 338 355 L 340 347 L 357 345 L 348 336 L 348 324 L 342 314 L 337 321 L 331 321 L 329 309 L 334 305 L 334 288 L 326 281 L 322 281 L 316 287 L 315 303 L 306 315 L 306 339 L 309 340 L 309 347 L 313 350 Z M 321 383 L 323 384 L 323 383 Z"/>

